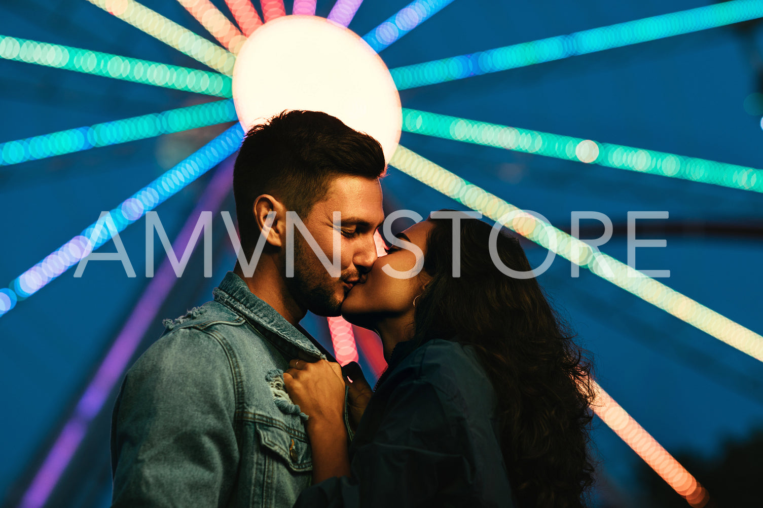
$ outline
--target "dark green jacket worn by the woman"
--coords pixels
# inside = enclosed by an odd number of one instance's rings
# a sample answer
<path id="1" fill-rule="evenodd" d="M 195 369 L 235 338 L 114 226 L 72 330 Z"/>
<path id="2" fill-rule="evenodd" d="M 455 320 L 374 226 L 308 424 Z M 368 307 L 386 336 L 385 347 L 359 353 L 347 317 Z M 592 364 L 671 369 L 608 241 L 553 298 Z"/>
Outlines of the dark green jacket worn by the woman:
<path id="1" fill-rule="evenodd" d="M 349 453 L 353 477 L 308 487 L 295 508 L 506 506 L 493 387 L 472 346 L 400 342 Z"/>

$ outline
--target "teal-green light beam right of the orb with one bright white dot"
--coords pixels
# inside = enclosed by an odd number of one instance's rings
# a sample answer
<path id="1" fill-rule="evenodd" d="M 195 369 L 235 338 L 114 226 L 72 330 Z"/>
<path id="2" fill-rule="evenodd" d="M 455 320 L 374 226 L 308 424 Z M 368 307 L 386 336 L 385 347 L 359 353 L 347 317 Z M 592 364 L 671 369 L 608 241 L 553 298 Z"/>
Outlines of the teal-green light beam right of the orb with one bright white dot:
<path id="1" fill-rule="evenodd" d="M 403 108 L 403 130 L 446 140 L 763 192 L 763 169 Z"/>

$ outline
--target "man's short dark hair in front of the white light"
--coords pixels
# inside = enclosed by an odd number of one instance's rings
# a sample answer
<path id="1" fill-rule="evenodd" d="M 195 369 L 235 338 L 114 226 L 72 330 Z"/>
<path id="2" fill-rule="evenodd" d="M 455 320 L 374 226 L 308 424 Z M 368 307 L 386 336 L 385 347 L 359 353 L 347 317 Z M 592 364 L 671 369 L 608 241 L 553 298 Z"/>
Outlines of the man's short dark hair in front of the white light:
<path id="1" fill-rule="evenodd" d="M 303 220 L 333 178 L 379 178 L 384 153 L 377 140 L 320 111 L 283 111 L 246 133 L 233 166 L 233 197 L 247 258 L 259 236 L 252 205 L 269 194 Z"/>

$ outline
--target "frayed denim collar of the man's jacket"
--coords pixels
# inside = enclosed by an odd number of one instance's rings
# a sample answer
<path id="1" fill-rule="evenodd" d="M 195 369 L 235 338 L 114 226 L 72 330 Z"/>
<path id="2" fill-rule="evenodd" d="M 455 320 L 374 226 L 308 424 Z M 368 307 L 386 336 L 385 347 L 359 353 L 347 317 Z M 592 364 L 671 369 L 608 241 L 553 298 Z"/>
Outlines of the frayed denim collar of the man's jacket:
<path id="1" fill-rule="evenodd" d="M 256 332 L 262 334 L 274 346 L 286 349 L 289 354 L 299 352 L 317 358 L 326 358 L 318 349 L 317 341 L 301 326 L 294 326 L 250 291 L 246 282 L 235 272 L 227 272 L 217 288 L 212 290 L 214 299 L 246 317 Z M 325 350 L 324 350 L 325 351 Z"/>

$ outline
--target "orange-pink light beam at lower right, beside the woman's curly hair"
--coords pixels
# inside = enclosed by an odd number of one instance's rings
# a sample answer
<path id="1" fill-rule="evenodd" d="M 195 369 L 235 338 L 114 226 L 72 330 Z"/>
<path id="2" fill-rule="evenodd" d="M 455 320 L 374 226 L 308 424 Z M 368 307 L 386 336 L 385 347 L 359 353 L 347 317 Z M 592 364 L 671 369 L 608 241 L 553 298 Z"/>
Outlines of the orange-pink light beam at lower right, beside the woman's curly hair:
<path id="1" fill-rule="evenodd" d="M 649 432 L 633 420 L 633 416 L 617 404 L 596 381 L 591 380 L 591 383 L 596 393 L 596 400 L 591 408 L 597 416 L 691 506 L 697 508 L 705 506 L 710 500 L 705 487 L 700 485 L 684 466 L 662 448 L 662 445 Z"/>

